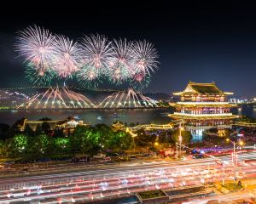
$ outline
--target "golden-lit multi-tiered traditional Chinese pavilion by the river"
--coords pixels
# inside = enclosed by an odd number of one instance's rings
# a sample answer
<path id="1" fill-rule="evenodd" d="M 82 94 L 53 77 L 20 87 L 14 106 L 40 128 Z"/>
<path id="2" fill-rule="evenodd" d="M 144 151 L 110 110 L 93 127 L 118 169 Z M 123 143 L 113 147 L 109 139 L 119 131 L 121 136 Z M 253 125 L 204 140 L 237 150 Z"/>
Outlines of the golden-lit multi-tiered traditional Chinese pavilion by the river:
<path id="1" fill-rule="evenodd" d="M 176 112 L 169 115 L 173 119 L 183 119 L 189 126 L 224 126 L 238 117 L 230 113 L 227 96 L 233 93 L 220 90 L 214 82 L 189 82 L 182 92 L 173 93 L 180 96 L 180 101 L 173 106 Z"/>

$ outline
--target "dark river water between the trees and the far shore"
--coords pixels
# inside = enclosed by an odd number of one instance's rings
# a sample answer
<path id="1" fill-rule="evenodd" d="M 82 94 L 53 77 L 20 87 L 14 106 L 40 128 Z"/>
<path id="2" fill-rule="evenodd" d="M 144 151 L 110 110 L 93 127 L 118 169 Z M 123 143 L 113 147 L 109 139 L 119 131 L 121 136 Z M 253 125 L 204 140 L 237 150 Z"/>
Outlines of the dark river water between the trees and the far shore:
<path id="1" fill-rule="evenodd" d="M 106 109 L 106 110 L 20 110 L 20 111 L 0 111 L 0 123 L 12 125 L 16 120 L 26 117 L 28 120 L 38 120 L 42 117 L 49 117 L 52 120 L 61 120 L 67 116 L 79 116 L 80 120 L 90 122 L 92 125 L 99 123 L 112 124 L 119 120 L 130 124 L 131 122 L 140 124 L 164 124 L 171 121 L 166 113 L 172 113 L 173 109 Z M 236 115 L 246 115 L 256 117 L 256 107 L 242 107 L 233 109 Z"/>

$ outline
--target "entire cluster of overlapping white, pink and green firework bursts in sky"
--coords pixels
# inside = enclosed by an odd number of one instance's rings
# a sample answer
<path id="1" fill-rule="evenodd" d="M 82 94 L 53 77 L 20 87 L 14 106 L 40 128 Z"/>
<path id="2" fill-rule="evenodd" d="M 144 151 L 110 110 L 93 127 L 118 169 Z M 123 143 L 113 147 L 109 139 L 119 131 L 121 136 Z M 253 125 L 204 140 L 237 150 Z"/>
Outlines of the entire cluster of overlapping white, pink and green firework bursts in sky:
<path id="1" fill-rule="evenodd" d="M 154 45 L 145 40 L 110 42 L 97 34 L 74 42 L 38 26 L 18 32 L 15 47 L 26 58 L 26 78 L 38 85 L 47 85 L 54 77 L 76 76 L 84 88 L 96 88 L 108 81 L 142 90 L 158 65 Z"/>

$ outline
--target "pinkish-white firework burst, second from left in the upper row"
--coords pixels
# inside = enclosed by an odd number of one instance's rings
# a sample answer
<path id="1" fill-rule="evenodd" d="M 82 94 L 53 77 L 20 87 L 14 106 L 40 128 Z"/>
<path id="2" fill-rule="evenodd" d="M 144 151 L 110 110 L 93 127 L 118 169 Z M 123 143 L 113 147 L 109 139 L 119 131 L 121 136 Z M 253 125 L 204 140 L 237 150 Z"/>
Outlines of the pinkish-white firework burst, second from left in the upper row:
<path id="1" fill-rule="evenodd" d="M 79 71 L 79 59 L 81 50 L 78 42 L 73 42 L 68 37 L 56 37 L 58 52 L 55 55 L 54 70 L 61 78 L 72 77 L 73 73 Z"/>

